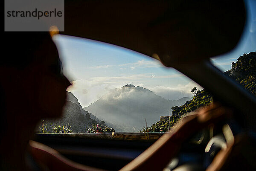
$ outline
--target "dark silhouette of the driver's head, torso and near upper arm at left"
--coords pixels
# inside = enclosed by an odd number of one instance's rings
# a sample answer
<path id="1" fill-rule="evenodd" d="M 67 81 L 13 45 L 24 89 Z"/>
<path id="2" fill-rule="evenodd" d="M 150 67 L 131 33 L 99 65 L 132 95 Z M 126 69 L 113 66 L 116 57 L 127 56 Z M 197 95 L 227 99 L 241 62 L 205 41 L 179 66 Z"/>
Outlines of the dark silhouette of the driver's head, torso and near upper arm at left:
<path id="1" fill-rule="evenodd" d="M 49 33 L 5 32 L 3 51 L 0 170 L 95 170 L 61 157 L 45 145 L 29 142 L 41 119 L 61 116 L 70 86 Z"/>

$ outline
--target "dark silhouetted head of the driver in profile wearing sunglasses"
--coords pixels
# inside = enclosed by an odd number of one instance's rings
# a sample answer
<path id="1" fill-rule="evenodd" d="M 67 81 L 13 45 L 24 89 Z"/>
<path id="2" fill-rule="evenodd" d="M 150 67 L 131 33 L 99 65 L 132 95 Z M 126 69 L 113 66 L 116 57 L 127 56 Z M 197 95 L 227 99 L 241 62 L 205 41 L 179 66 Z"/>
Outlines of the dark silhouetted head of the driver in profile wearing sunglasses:
<path id="1" fill-rule="evenodd" d="M 19 107 L 16 114 L 31 120 L 61 116 L 70 82 L 62 75 L 49 33 L 5 32 L 4 38 L 0 85 L 5 113 L 10 107 Z"/>

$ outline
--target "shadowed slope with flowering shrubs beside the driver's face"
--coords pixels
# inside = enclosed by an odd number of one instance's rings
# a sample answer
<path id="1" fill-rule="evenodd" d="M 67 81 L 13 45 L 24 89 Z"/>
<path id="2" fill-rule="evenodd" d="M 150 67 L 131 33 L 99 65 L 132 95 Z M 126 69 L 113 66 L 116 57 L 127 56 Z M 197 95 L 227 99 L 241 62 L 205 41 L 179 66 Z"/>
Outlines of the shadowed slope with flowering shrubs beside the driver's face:
<path id="1" fill-rule="evenodd" d="M 67 101 L 61 118 L 42 120 L 36 131 L 39 133 L 99 133 L 113 132 L 113 128 L 109 128 L 105 121 L 100 121 L 92 113 L 83 110 L 76 97 L 67 92 Z"/>

